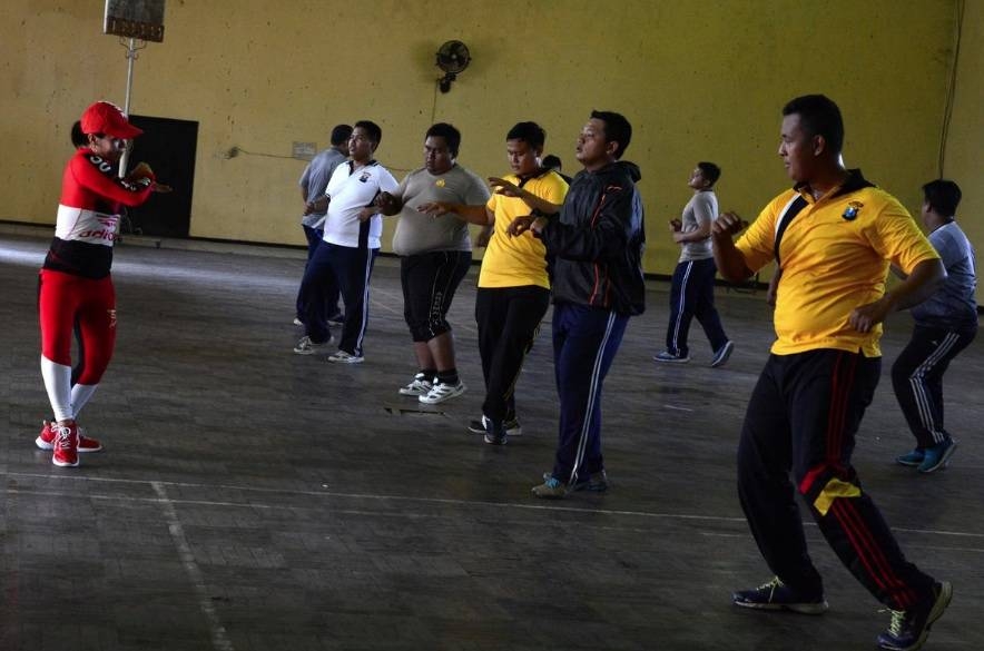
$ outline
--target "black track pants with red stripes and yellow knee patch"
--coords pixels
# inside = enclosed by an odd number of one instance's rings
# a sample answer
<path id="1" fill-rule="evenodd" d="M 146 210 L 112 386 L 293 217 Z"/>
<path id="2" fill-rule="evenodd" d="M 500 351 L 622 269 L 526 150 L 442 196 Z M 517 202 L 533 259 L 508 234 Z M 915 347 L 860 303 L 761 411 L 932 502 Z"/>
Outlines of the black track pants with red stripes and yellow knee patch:
<path id="1" fill-rule="evenodd" d="M 770 355 L 745 415 L 738 494 L 762 556 L 787 585 L 823 594 L 798 491 L 845 566 L 878 601 L 906 610 L 932 598 L 934 581 L 905 560 L 850 465 L 880 371 L 879 357 L 845 351 Z"/>

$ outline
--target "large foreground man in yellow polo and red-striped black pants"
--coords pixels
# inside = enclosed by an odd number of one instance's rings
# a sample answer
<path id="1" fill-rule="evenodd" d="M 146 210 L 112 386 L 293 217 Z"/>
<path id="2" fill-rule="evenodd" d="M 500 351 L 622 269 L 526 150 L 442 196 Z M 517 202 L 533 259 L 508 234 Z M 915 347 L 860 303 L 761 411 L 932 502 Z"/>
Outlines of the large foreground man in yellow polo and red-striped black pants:
<path id="1" fill-rule="evenodd" d="M 799 491 L 842 562 L 892 610 L 878 647 L 912 651 L 949 604 L 952 586 L 906 561 L 850 464 L 855 434 L 882 368 L 882 322 L 917 305 L 946 277 L 936 251 L 895 197 L 840 161 L 844 122 L 810 95 L 783 109 L 779 156 L 793 189 L 748 227 L 734 213 L 712 227 L 715 262 L 744 280 L 776 260 L 776 343 L 752 391 L 738 445 L 738 493 L 776 574 L 732 594 L 742 608 L 820 614 L 823 580 L 806 549 Z M 889 264 L 907 274 L 886 292 Z M 795 484 L 789 480 L 790 470 Z"/>

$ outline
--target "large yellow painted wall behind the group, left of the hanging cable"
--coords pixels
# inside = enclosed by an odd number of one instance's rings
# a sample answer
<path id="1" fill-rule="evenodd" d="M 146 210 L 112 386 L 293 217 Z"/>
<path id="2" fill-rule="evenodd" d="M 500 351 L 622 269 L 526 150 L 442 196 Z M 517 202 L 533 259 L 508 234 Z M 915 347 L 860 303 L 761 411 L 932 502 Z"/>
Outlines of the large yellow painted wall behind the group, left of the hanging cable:
<path id="1" fill-rule="evenodd" d="M 919 185 L 935 176 L 953 7 L 167 0 L 165 42 L 140 52 L 131 110 L 199 122 L 193 236 L 287 244 L 303 240 L 296 180 L 304 162 L 287 158 L 292 141 L 324 146 L 338 121 L 377 121 L 377 158 L 397 176 L 420 165 L 431 121 L 451 121 L 464 135 L 461 162 L 492 175 L 505 170 L 503 138 L 515 121 L 541 122 L 548 151 L 572 171 L 590 109 L 619 110 L 636 129 L 627 158 L 643 174 L 647 270 L 666 274 L 677 249 L 665 224 L 688 199 L 697 160 L 724 168 L 722 208 L 749 216 L 788 185 L 775 151 L 781 105 L 796 95 L 838 101 L 848 165 L 916 208 Z M 977 38 L 965 39 L 977 48 L 968 73 L 980 80 L 980 4 L 968 13 L 978 23 Z M 101 14 L 97 0 L 0 7 L 0 219 L 53 221 L 69 126 L 95 99 L 122 101 L 125 50 L 101 34 Z M 447 39 L 465 41 L 474 60 L 439 95 L 433 53 Z M 980 100 L 980 81 L 976 93 Z M 980 101 L 962 101 L 954 124 L 980 144 L 971 116 Z M 967 145 L 964 158 L 980 157 Z M 226 159 L 233 146 L 253 154 Z"/>

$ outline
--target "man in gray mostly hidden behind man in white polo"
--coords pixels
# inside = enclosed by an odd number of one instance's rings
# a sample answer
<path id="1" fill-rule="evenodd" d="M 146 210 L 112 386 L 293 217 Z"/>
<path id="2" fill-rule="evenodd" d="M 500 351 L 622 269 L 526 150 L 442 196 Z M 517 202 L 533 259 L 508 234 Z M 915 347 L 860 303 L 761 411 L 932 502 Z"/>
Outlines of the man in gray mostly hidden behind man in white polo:
<path id="1" fill-rule="evenodd" d="M 319 197 L 325 194 L 328 187 L 328 179 L 332 178 L 335 168 L 348 160 L 348 137 L 352 136 L 352 127 L 348 125 L 338 125 L 332 129 L 332 146 L 321 151 L 311 159 L 301 180 L 301 200 L 307 205 L 309 199 Z M 301 227 L 304 228 L 304 237 L 307 239 L 307 260 L 314 255 L 315 249 L 325 235 L 325 216 L 327 213 L 311 213 L 301 217 Z M 334 289 L 332 289 L 332 287 Z M 328 315 L 328 320 L 337 320 L 342 318 L 342 310 L 338 308 L 338 284 L 333 283 L 328 289 L 328 294 L 324 297 Z M 297 293 L 295 325 L 303 325 L 301 315 L 304 314 L 304 306 L 301 305 L 301 293 Z"/>

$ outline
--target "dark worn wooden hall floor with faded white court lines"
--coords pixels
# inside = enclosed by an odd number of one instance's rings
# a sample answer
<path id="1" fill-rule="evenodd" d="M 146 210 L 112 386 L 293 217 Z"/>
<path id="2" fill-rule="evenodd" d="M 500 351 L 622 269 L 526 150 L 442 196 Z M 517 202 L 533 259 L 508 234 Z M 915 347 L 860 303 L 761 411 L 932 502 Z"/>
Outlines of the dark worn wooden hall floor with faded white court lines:
<path id="1" fill-rule="evenodd" d="M 719 294 L 725 367 L 696 324 L 692 362 L 667 367 L 651 361 L 668 318 L 653 284 L 604 386 L 612 490 L 543 502 L 549 323 L 519 385 L 523 436 L 485 445 L 466 428 L 483 393 L 473 277 L 450 317 L 469 392 L 422 410 L 396 392 L 415 367 L 387 259 L 366 362 L 340 367 L 292 353 L 299 254 L 118 247 L 116 357 L 81 418 L 106 451 L 51 465 L 33 445 L 46 247 L 0 236 L 2 651 L 829 651 L 873 649 L 888 622 L 811 523 L 830 611 L 730 604 L 770 578 L 734 460 L 773 336 L 761 294 Z M 911 560 L 954 583 L 926 648 L 980 650 L 984 344 L 946 376 L 951 467 L 921 476 L 892 461 L 913 445 L 887 377 L 909 327 L 889 324 L 854 460 Z"/>

